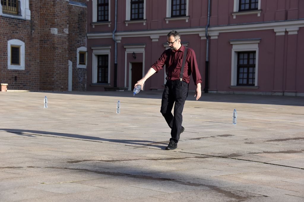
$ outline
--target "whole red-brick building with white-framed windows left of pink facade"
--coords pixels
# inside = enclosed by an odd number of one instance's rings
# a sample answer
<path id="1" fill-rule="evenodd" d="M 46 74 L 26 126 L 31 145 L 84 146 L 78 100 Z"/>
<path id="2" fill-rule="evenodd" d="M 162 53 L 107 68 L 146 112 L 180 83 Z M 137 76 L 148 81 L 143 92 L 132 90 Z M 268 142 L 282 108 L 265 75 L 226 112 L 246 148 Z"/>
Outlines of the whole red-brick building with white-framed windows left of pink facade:
<path id="1" fill-rule="evenodd" d="M 1 0 L 0 82 L 8 90 L 86 90 L 86 0 Z"/>

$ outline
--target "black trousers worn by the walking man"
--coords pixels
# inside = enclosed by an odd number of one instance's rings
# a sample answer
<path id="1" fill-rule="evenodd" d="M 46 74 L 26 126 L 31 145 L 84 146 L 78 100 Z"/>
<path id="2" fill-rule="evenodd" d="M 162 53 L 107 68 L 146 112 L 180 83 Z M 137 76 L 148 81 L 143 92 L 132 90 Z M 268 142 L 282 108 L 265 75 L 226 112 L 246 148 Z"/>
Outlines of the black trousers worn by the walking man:
<path id="1" fill-rule="evenodd" d="M 186 98 L 188 97 L 189 84 L 185 81 L 167 81 L 161 100 L 161 114 L 171 128 L 170 141 L 178 143 L 183 121 L 182 112 Z M 175 103 L 175 104 L 174 104 Z M 172 108 L 174 104 L 174 113 Z"/>

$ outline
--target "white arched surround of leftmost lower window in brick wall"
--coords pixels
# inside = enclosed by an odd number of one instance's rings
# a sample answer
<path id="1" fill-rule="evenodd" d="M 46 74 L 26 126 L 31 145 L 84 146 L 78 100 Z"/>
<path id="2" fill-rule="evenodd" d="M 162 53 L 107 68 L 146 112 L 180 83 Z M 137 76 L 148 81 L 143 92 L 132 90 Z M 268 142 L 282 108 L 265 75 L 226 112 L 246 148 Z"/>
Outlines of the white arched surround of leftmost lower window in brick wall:
<path id="1" fill-rule="evenodd" d="M 20 47 L 20 65 L 11 65 L 11 47 L 19 46 Z M 17 69 L 24 70 L 25 69 L 25 45 L 23 41 L 18 39 L 11 39 L 7 41 L 7 68 L 8 69 Z"/>

